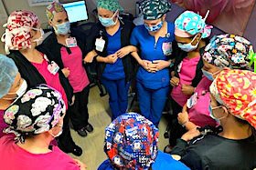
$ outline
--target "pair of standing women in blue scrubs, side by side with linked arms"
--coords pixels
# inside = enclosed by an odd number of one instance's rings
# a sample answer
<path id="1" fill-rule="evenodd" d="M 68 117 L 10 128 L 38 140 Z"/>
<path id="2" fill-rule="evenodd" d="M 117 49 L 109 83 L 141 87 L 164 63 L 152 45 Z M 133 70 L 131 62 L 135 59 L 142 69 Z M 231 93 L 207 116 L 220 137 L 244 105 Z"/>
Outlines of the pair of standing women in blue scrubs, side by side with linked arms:
<path id="1" fill-rule="evenodd" d="M 120 18 L 123 7 L 118 1 L 97 1 L 100 22 L 87 37 L 90 53 L 84 61 L 98 62 L 112 120 L 126 112 L 129 87 L 135 81 L 142 115 L 158 126 L 170 88 L 175 25 L 165 21 L 171 9 L 167 1 L 144 1 L 140 8 L 144 25 L 135 27 Z"/>

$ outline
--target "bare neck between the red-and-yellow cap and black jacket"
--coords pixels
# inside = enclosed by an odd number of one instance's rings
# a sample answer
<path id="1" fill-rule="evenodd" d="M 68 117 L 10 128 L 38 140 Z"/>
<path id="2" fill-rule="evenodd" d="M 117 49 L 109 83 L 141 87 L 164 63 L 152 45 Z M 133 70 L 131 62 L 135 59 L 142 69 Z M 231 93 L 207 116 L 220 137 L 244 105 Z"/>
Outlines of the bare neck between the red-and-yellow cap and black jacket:
<path id="1" fill-rule="evenodd" d="M 228 139 L 240 140 L 252 135 L 250 125 L 241 125 L 234 118 L 227 117 L 227 119 L 221 120 L 221 125 L 223 131 L 219 135 Z"/>

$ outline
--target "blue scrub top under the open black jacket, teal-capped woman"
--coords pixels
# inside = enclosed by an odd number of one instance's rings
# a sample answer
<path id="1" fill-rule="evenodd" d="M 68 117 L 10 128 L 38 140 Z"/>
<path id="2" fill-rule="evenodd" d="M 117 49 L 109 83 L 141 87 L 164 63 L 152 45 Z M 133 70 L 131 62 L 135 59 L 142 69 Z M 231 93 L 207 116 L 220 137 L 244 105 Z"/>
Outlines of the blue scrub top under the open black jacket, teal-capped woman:
<path id="1" fill-rule="evenodd" d="M 122 47 L 121 27 L 114 35 L 107 34 L 107 37 L 108 37 L 107 54 L 112 55 L 118 50 L 120 50 Z M 106 64 L 102 77 L 108 80 L 120 80 L 125 78 L 122 59 L 118 58 L 114 64 Z"/>

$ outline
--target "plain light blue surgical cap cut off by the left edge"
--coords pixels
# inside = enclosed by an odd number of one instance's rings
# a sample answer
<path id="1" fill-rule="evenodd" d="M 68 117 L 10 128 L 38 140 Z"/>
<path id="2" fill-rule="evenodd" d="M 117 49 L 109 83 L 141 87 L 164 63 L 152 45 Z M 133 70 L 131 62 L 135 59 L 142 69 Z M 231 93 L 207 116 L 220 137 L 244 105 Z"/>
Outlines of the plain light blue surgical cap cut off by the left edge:
<path id="1" fill-rule="evenodd" d="M 0 98 L 9 92 L 17 73 L 15 62 L 11 58 L 0 54 Z"/>

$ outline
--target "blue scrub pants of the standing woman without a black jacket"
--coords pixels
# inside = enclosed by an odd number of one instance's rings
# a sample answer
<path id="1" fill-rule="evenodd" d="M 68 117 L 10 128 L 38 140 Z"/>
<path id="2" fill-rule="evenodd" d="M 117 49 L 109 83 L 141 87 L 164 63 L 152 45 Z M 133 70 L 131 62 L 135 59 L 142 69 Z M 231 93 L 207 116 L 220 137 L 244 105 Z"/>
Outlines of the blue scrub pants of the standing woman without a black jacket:
<path id="1" fill-rule="evenodd" d="M 165 108 L 169 86 L 149 89 L 144 87 L 142 83 L 137 82 L 137 92 L 141 114 L 158 126 Z"/>

